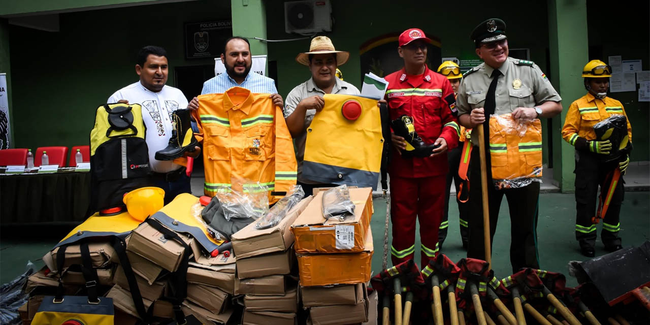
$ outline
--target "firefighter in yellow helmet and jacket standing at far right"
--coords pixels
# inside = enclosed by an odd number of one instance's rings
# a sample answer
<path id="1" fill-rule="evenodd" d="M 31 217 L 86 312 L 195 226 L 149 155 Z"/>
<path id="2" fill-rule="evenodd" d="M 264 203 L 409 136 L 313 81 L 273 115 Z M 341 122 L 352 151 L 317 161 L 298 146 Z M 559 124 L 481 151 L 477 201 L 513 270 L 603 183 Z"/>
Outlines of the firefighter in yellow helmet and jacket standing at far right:
<path id="1" fill-rule="evenodd" d="M 596 214 L 596 198 L 599 185 L 603 187 L 606 177 L 614 169 L 619 168 L 621 174 L 629 164 L 629 153 L 623 153 L 618 161 L 605 162 L 604 158 L 612 151 L 609 140 L 597 140 L 593 125 L 609 118 L 614 114 L 626 116 L 620 101 L 607 97 L 609 77 L 612 67 L 601 60 L 591 60 L 584 69 L 584 87 L 588 90 L 585 96 L 571 103 L 567 110 L 562 138 L 575 146 L 575 202 L 576 221 L 575 237 L 580 244 L 580 252 L 587 257 L 595 255 L 596 225 L 591 218 Z M 629 142 L 632 142 L 632 127 L 627 121 Z M 618 146 L 618 144 L 616 144 Z M 602 190 L 602 188 L 601 188 Z M 606 190 L 606 189 L 605 189 Z M 621 229 L 619 212 L 623 201 L 623 179 L 618 181 L 609 208 L 603 219 L 601 239 L 605 249 L 614 252 L 620 250 Z"/>

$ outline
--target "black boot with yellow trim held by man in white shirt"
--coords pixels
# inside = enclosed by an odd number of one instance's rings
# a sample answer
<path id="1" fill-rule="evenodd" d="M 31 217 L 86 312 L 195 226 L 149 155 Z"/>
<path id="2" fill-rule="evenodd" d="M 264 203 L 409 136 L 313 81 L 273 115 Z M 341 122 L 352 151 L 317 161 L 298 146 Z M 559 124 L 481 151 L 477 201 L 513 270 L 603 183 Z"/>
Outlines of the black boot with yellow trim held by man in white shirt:
<path id="1" fill-rule="evenodd" d="M 192 133 L 192 121 L 189 109 L 177 109 L 172 114 L 172 138 L 167 148 L 156 151 L 155 158 L 159 161 L 170 161 L 182 157 L 186 151 L 194 151 L 199 143 Z"/>

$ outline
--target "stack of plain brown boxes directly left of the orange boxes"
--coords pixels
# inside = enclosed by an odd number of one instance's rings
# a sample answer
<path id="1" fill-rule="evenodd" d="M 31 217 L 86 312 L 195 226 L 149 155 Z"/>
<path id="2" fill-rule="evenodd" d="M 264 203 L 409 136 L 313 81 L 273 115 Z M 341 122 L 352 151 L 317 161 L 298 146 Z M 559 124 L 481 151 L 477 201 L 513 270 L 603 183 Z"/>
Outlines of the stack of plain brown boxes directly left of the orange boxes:
<path id="1" fill-rule="evenodd" d="M 242 324 L 296 322 L 298 281 L 293 236 L 289 228 L 309 205 L 311 196 L 298 202 L 279 224 L 257 229 L 255 222 L 232 237 L 237 255 L 235 294 L 244 305 Z"/>

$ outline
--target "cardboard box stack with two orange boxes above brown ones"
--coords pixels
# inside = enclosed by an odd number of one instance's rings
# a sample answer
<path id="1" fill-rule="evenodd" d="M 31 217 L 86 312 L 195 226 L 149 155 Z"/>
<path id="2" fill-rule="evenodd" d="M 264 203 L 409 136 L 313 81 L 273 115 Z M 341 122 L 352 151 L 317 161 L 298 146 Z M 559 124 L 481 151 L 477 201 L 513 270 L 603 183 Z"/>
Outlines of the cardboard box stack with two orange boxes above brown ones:
<path id="1" fill-rule="evenodd" d="M 372 189 L 350 188 L 354 216 L 343 221 L 322 214 L 322 191 L 294 221 L 300 297 L 311 324 L 368 321 L 366 283 L 372 261 Z"/>

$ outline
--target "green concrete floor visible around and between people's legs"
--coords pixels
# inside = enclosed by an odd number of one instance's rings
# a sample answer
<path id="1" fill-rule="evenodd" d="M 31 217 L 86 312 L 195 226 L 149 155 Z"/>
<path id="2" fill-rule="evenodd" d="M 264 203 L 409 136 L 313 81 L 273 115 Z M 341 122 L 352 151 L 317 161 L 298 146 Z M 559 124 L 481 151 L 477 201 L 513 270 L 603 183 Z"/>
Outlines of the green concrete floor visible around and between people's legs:
<path id="1" fill-rule="evenodd" d="M 569 261 L 584 261 L 586 257 L 580 255 L 574 237 L 575 198 L 573 194 L 543 193 L 540 195 L 539 202 L 541 204 L 539 207 L 538 244 L 541 267 L 549 271 L 564 273 L 567 275 L 567 284 L 576 285 L 575 279 L 568 276 L 567 265 Z M 386 201 L 383 198 L 375 198 L 373 204 L 374 215 L 370 222 L 375 248 L 372 257 L 372 270 L 374 274 L 377 274 L 382 266 Z M 621 209 L 623 246 L 638 246 L 650 239 L 649 209 L 650 192 L 637 191 L 625 194 L 625 201 Z M 506 200 L 502 202 L 500 211 L 492 257 L 493 269 L 498 278 L 512 273 L 508 253 L 510 218 Z M 461 246 L 458 230 L 458 206 L 455 203 L 450 205 L 449 213 L 449 230 L 443 253 L 447 254 L 452 261 L 458 261 L 465 257 L 465 251 Z M 38 267 L 42 266 L 40 258 L 73 227 L 73 225 L 3 227 L 0 239 L 0 283 L 6 283 L 23 272 L 28 260 L 34 262 Z M 419 235 L 415 241 L 415 256 L 419 261 Z M 390 242 L 389 234 L 389 244 Z M 603 255 L 604 253 L 606 251 L 604 251 L 602 243 L 597 242 L 596 254 Z"/>

